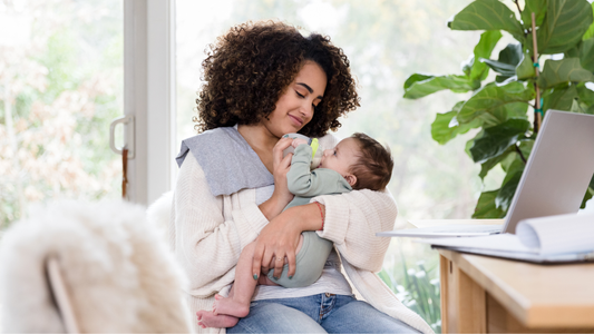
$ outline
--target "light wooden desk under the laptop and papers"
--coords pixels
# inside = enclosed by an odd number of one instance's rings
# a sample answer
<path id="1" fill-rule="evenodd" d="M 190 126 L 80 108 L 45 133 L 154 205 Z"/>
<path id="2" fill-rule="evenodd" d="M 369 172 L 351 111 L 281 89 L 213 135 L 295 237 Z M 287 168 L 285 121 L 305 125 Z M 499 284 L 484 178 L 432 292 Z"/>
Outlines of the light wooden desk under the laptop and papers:
<path id="1" fill-rule="evenodd" d="M 594 333 L 594 263 L 439 254 L 444 333 Z"/>

